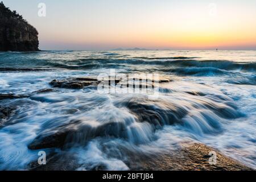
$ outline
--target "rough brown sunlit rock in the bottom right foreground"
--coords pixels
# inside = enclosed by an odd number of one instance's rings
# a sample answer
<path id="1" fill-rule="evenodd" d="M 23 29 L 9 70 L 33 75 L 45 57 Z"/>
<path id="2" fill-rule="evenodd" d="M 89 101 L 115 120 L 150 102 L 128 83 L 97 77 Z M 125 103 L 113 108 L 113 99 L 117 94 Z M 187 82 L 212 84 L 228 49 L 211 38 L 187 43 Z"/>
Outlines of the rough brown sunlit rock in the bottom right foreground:
<path id="1" fill-rule="evenodd" d="M 216 164 L 210 164 L 210 151 L 216 152 Z M 146 171 L 243 171 L 253 170 L 237 160 L 201 143 L 185 144 L 169 154 L 154 155 L 144 160 L 130 160 L 131 170 Z"/>

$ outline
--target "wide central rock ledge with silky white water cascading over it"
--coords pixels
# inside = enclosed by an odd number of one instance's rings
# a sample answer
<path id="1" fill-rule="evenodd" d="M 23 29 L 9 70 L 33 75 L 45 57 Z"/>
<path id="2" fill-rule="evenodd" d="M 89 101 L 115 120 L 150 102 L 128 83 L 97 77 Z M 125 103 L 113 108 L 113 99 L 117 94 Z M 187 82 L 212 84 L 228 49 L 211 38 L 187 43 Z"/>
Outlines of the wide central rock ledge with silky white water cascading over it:
<path id="1" fill-rule="evenodd" d="M 121 97 L 114 100 L 113 105 L 106 105 L 110 110 L 98 111 L 92 109 L 87 117 L 76 114 L 76 118 L 56 117 L 42 125 L 42 131 L 28 148 L 70 148 L 85 146 L 95 138 L 123 139 L 131 144 L 146 144 L 154 141 L 155 132 L 167 125 L 179 125 L 195 135 L 220 133 L 223 119 L 234 119 L 243 115 L 238 111 L 229 97 L 220 95 L 219 98 L 205 96 L 190 97 L 190 93 L 173 95 L 169 98 L 158 98 L 154 101 L 145 97 Z M 222 97 L 221 97 L 222 96 Z M 109 103 L 99 96 L 95 100 Z M 88 102 L 89 98 L 84 98 Z M 69 102 L 69 101 L 68 101 Z M 90 105 L 92 107 L 92 105 Z M 65 108 L 67 109 L 67 108 Z M 88 111 L 84 106 L 80 112 Z M 102 114 L 103 114 L 102 113 Z M 92 117 L 92 118 L 91 118 Z"/>

